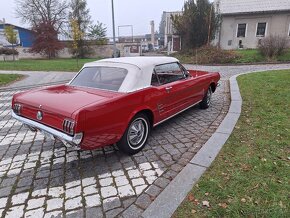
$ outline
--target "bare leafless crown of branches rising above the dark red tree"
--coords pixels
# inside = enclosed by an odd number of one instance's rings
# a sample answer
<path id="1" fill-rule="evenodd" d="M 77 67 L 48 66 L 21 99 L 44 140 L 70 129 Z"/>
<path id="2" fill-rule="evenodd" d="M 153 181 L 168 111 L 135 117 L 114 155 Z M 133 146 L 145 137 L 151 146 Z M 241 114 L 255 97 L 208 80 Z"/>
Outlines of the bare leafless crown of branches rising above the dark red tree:
<path id="1" fill-rule="evenodd" d="M 65 0 L 16 0 L 16 13 L 32 27 L 50 24 L 59 32 L 67 22 L 68 4 Z"/>

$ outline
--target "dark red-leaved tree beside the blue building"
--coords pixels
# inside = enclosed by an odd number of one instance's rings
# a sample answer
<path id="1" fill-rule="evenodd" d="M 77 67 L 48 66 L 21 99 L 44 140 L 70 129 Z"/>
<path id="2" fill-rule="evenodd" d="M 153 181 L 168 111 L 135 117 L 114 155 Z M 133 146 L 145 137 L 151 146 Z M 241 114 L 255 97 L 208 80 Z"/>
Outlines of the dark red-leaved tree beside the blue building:
<path id="1" fill-rule="evenodd" d="M 57 38 L 57 31 L 50 23 L 39 23 L 33 27 L 34 43 L 31 52 L 46 55 L 49 59 L 54 58 L 58 51 L 64 48 Z"/>

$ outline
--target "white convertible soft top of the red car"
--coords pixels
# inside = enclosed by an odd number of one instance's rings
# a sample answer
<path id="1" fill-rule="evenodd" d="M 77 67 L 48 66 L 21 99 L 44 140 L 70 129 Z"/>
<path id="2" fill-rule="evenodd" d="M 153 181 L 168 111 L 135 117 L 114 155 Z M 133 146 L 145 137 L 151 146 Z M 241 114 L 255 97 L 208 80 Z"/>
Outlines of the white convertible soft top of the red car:
<path id="1" fill-rule="evenodd" d="M 173 62 L 179 61 L 173 57 L 122 57 L 90 62 L 84 67 L 107 66 L 127 69 L 128 74 L 118 91 L 133 92 L 151 85 L 152 72 L 156 65 Z"/>

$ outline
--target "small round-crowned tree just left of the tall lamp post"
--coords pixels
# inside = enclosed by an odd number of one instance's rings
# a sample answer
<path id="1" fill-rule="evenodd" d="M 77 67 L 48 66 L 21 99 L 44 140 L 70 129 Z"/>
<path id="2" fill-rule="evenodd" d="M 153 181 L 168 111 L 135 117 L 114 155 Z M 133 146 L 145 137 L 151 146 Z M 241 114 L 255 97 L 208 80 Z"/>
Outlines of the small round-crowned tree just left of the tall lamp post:
<path id="1" fill-rule="evenodd" d="M 103 23 L 97 22 L 97 24 L 89 27 L 88 37 L 96 41 L 97 45 L 104 45 L 107 43 L 107 27 L 103 26 Z"/>

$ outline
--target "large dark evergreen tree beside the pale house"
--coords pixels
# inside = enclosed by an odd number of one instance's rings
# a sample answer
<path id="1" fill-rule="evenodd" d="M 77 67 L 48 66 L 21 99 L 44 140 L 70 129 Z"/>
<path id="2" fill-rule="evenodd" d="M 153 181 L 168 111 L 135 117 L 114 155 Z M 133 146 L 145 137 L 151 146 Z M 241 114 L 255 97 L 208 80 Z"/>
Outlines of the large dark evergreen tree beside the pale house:
<path id="1" fill-rule="evenodd" d="M 182 15 L 172 17 L 173 25 L 182 39 L 182 49 L 209 44 L 218 28 L 219 18 L 208 0 L 188 0 Z"/>

